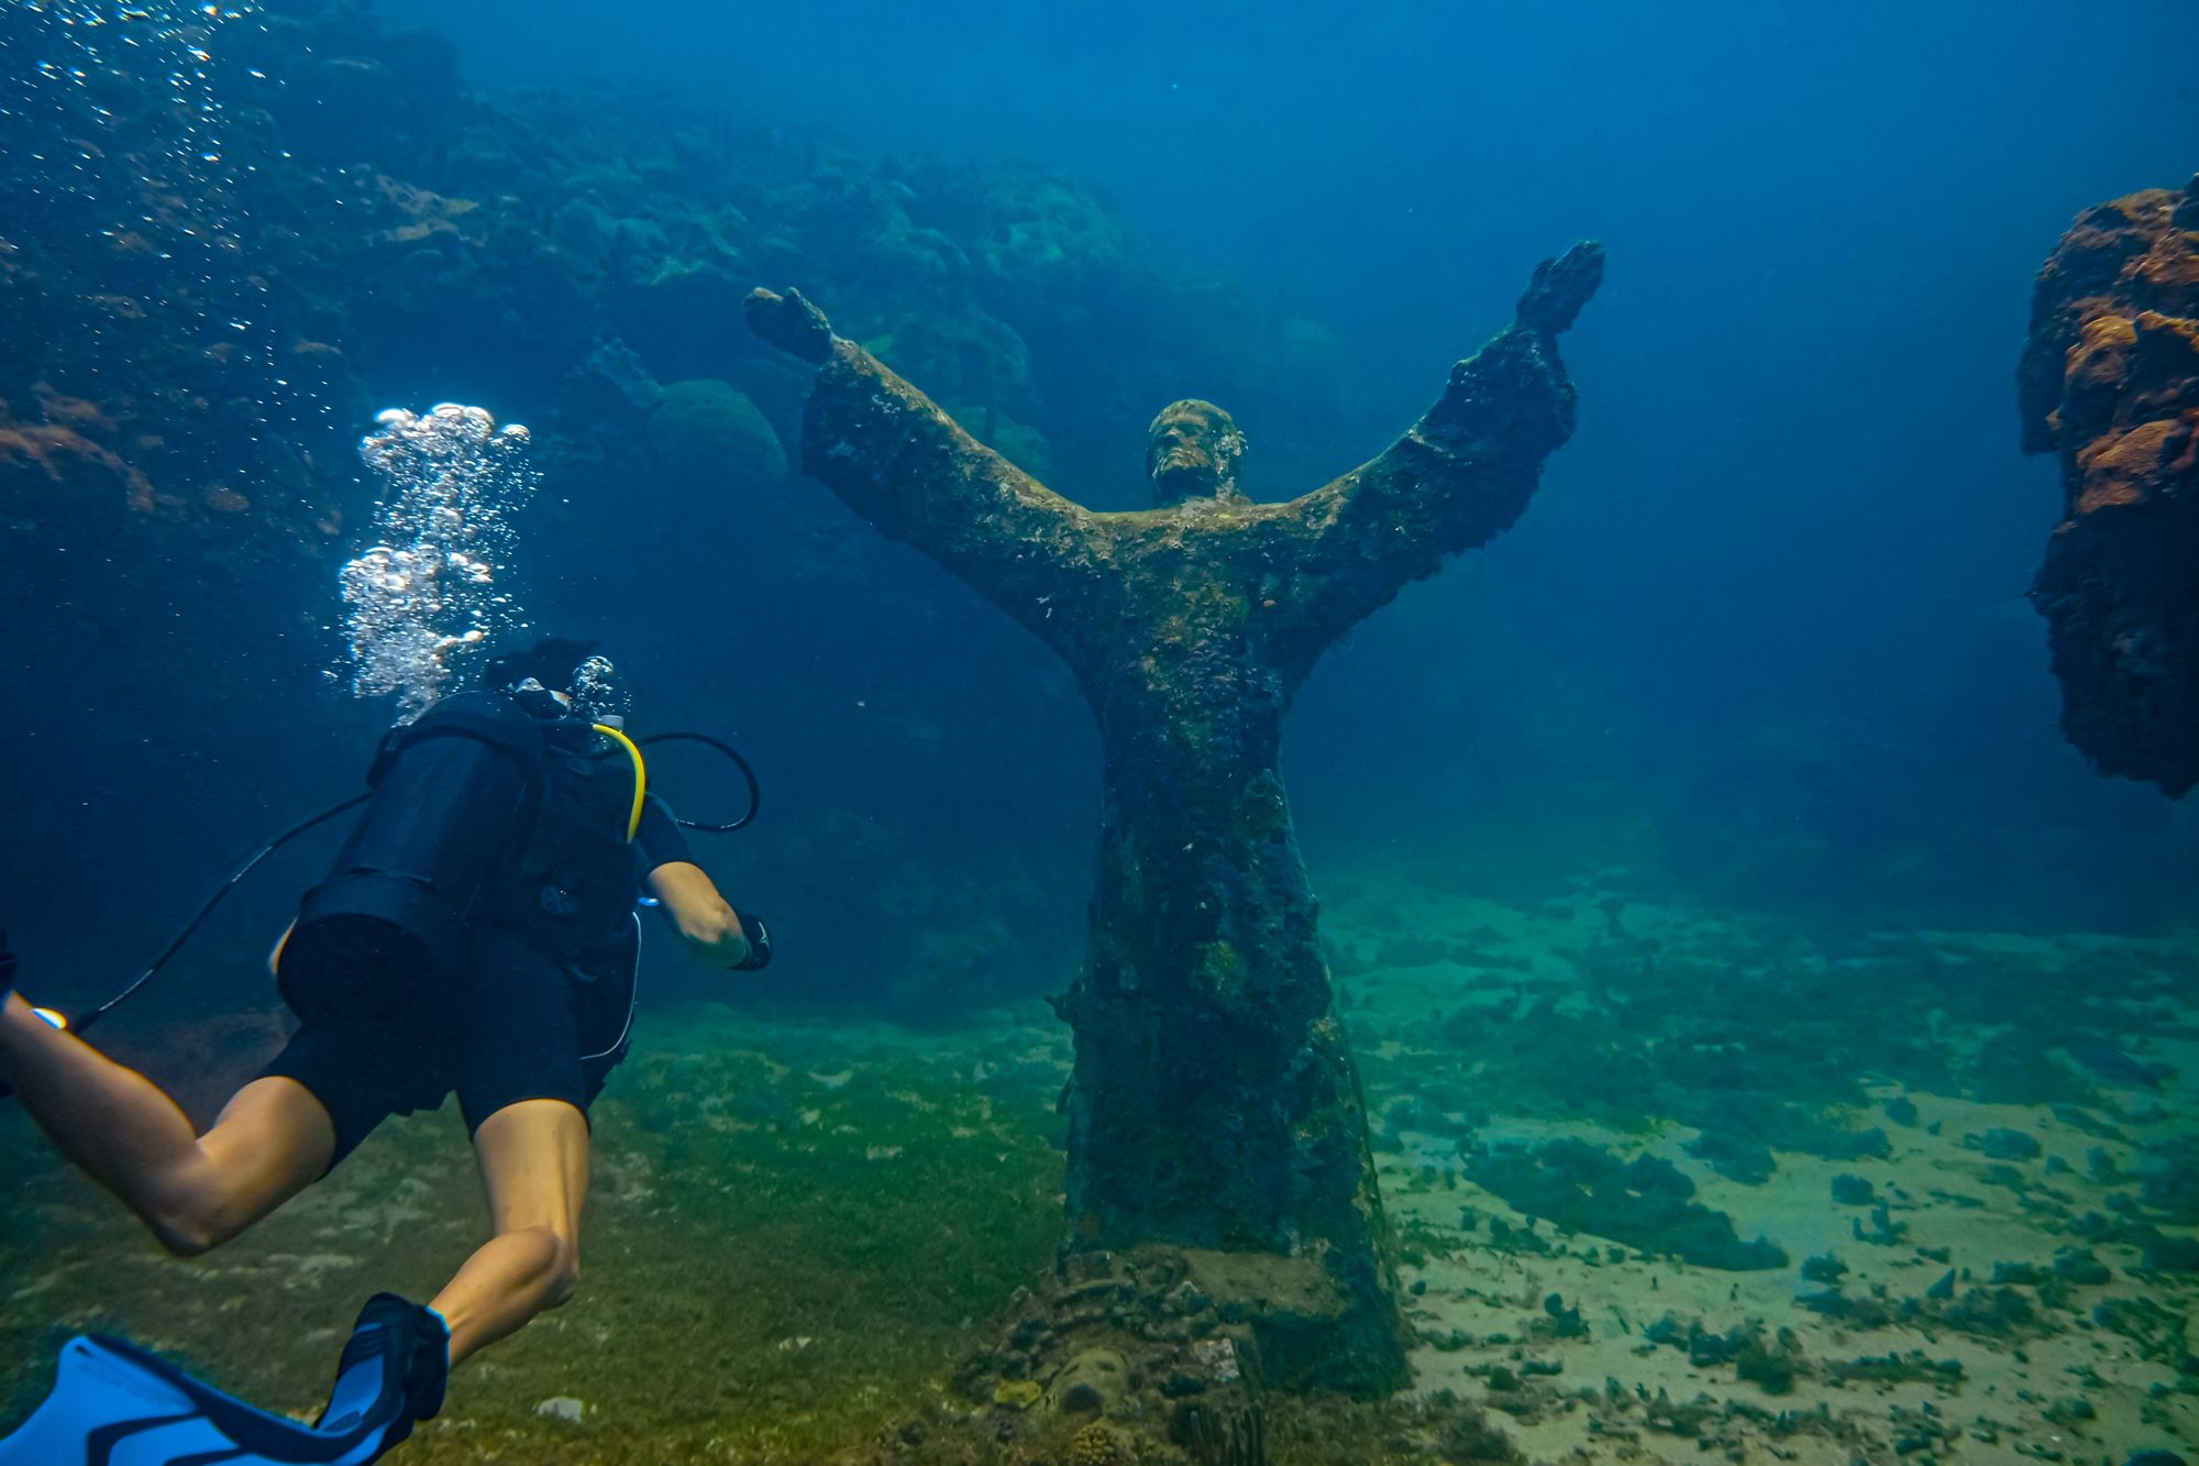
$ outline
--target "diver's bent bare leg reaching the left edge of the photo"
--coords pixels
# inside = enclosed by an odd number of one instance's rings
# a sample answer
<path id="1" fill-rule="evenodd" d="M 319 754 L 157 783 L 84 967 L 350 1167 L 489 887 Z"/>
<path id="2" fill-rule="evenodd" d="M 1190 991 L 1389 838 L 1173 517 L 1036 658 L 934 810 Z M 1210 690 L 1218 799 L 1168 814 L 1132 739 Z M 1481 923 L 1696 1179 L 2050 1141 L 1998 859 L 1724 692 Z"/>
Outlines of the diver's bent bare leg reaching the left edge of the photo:
<path id="1" fill-rule="evenodd" d="M 158 1085 L 48 1028 L 15 995 L 0 1006 L 0 1079 L 178 1257 L 229 1241 L 310 1186 L 336 1151 L 328 1109 L 290 1079 L 244 1085 L 200 1136 Z"/>

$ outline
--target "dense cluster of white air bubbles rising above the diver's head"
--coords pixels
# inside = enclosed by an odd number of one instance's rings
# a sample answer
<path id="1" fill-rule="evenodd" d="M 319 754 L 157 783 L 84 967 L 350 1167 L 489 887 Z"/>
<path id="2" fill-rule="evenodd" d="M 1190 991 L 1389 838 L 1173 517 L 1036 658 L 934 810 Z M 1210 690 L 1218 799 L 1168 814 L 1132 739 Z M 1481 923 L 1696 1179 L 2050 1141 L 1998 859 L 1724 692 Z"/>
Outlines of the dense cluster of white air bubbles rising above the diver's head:
<path id="1" fill-rule="evenodd" d="M 358 456 L 383 489 L 376 544 L 339 572 L 350 685 L 361 698 L 396 693 L 398 720 L 411 720 L 471 649 L 526 630 L 497 577 L 510 570 L 512 513 L 541 475 L 528 429 L 497 427 L 482 407 L 391 407 L 374 420 Z"/>

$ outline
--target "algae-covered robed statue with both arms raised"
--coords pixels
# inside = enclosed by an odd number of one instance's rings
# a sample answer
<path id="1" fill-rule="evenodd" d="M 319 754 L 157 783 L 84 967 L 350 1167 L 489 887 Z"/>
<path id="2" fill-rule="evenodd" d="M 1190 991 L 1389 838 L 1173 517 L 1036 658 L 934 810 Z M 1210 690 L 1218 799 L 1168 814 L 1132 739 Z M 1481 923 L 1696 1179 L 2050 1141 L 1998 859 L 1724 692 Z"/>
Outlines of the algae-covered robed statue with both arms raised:
<path id="1" fill-rule="evenodd" d="M 798 293 L 748 299 L 756 335 L 816 365 L 803 469 L 1053 647 L 1100 720 L 1091 944 L 1056 999 L 1075 1032 L 1064 1270 L 1157 1246 L 1179 1277 L 1190 1259 L 1196 1294 L 1249 1319 L 1278 1385 L 1405 1382 L 1282 720 L 1352 623 L 1526 508 L 1572 431 L 1557 337 L 1601 275 L 1596 244 L 1544 262 L 1517 321 L 1403 438 L 1289 502 L 1242 495 L 1229 414 L 1168 407 L 1148 451 L 1154 508 L 1137 513 L 1049 491 Z"/>

